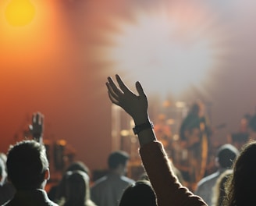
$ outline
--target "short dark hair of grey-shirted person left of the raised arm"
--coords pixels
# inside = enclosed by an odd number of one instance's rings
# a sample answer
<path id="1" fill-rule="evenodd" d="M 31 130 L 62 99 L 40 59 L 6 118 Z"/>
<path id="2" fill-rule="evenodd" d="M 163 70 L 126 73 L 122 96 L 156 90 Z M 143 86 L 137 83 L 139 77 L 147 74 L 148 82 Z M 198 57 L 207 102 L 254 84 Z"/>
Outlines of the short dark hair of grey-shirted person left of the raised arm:
<path id="1" fill-rule="evenodd" d="M 129 158 L 125 151 L 113 151 L 108 156 L 108 168 L 116 169 L 118 165 L 125 165 Z"/>

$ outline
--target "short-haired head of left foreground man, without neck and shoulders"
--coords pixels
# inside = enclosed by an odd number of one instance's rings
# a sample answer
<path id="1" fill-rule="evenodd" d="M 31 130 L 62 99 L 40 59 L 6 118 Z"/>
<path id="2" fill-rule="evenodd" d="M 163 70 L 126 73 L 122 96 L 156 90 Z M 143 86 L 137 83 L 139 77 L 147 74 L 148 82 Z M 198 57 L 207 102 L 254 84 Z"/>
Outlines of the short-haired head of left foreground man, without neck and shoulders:
<path id="1" fill-rule="evenodd" d="M 8 178 L 16 190 L 44 188 L 49 179 L 45 147 L 35 140 L 23 140 L 9 148 Z"/>

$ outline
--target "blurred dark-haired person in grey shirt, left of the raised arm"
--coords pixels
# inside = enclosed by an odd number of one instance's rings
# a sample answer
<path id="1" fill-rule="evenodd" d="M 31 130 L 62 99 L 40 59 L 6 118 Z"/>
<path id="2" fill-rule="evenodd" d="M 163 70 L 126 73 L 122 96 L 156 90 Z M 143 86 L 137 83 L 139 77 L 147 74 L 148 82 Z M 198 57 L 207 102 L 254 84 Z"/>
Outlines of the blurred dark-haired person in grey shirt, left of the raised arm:
<path id="1" fill-rule="evenodd" d="M 125 151 L 113 151 L 108 156 L 108 174 L 91 186 L 91 200 L 98 206 L 115 206 L 119 204 L 123 190 L 133 179 L 125 176 L 129 155 Z"/>

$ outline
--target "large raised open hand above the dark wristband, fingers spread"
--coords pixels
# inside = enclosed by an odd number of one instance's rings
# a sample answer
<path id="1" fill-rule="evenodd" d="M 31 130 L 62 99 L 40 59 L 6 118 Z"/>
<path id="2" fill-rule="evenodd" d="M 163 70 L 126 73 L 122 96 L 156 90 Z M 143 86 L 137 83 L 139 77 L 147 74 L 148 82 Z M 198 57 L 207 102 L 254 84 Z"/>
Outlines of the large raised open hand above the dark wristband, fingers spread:
<path id="1" fill-rule="evenodd" d="M 108 77 L 108 82 L 106 83 L 108 97 L 112 103 L 119 105 L 131 115 L 136 125 L 148 122 L 148 98 L 144 94 L 140 83 L 136 83 L 136 89 L 139 94 L 136 95 L 123 83 L 119 75 L 116 75 L 116 81 L 119 87 L 117 87 L 111 77 Z"/>

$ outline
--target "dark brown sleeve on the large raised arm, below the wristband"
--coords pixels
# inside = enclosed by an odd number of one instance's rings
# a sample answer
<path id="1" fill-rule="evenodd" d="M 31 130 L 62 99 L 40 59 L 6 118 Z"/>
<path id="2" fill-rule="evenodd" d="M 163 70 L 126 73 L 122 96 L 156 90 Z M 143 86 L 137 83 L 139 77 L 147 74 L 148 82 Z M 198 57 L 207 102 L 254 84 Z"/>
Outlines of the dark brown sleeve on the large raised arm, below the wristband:
<path id="1" fill-rule="evenodd" d="M 187 187 L 181 185 L 160 142 L 154 141 L 141 147 L 140 157 L 155 190 L 158 206 L 207 205 L 201 197 L 192 194 Z"/>

